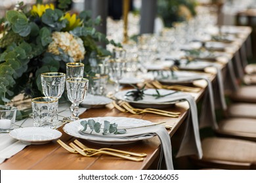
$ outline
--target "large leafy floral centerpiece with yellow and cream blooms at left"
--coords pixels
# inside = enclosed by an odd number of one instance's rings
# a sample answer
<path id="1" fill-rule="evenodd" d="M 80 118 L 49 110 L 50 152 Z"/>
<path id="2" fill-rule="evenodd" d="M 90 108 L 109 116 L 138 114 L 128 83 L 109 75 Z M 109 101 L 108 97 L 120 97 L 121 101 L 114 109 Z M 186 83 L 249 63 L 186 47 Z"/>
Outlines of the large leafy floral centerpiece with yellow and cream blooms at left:
<path id="1" fill-rule="evenodd" d="M 19 93 L 37 97 L 41 93 L 41 73 L 66 73 L 66 63 L 81 61 L 89 73 L 92 52 L 110 54 L 97 42 L 115 44 L 95 30 L 100 18 L 90 12 L 72 14 L 65 11 L 70 0 L 29 7 L 23 3 L 9 10 L 1 20 L 0 35 L 0 103 Z"/>

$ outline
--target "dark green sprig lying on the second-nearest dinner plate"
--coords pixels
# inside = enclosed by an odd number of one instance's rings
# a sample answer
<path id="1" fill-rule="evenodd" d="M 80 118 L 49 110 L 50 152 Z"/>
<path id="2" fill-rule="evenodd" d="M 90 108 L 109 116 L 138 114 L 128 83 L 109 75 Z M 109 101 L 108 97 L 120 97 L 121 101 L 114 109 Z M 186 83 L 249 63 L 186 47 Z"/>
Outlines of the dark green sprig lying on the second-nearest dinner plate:
<path id="1" fill-rule="evenodd" d="M 133 97 L 133 101 L 139 101 L 139 100 L 143 99 L 144 95 L 150 95 L 152 97 L 155 97 L 155 99 L 160 99 L 161 97 L 166 97 L 167 95 L 172 95 L 174 93 L 177 93 L 177 91 L 176 91 L 176 92 L 167 93 L 165 95 L 161 95 L 161 93 L 158 91 L 158 89 L 156 89 L 156 93 L 147 94 L 147 93 L 144 93 L 144 91 L 146 90 L 145 86 L 146 86 L 146 84 L 142 88 L 138 88 L 136 86 L 133 86 L 135 88 L 135 90 L 127 92 L 125 94 L 125 96 Z"/>

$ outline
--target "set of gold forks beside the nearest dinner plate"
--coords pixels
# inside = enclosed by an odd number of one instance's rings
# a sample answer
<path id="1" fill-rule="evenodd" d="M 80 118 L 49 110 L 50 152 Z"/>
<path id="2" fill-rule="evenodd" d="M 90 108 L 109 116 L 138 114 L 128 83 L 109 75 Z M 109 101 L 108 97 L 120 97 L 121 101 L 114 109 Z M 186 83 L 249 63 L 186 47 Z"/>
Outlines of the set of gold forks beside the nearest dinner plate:
<path id="1" fill-rule="evenodd" d="M 100 148 L 100 149 L 88 148 L 87 146 L 85 146 L 85 144 L 82 144 L 77 140 L 75 140 L 74 143 L 70 142 L 70 146 L 62 142 L 60 139 L 58 139 L 57 142 L 64 149 L 68 150 L 68 152 L 71 152 L 74 154 L 81 154 L 82 156 L 85 156 L 85 157 L 92 157 L 98 154 L 106 154 L 109 156 L 115 156 L 118 158 L 128 159 L 131 161 L 143 161 L 144 157 L 147 156 L 147 154 L 145 153 L 129 152 L 129 151 L 117 150 L 113 148 Z"/>

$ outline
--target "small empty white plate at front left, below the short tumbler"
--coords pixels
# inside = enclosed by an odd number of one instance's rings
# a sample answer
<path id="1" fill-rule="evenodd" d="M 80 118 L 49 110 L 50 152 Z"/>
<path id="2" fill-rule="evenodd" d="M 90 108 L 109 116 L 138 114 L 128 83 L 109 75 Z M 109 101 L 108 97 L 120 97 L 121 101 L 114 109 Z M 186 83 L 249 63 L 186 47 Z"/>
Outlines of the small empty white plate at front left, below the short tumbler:
<path id="1" fill-rule="evenodd" d="M 62 133 L 47 127 L 23 127 L 12 130 L 9 135 L 25 144 L 46 144 L 60 138 Z"/>

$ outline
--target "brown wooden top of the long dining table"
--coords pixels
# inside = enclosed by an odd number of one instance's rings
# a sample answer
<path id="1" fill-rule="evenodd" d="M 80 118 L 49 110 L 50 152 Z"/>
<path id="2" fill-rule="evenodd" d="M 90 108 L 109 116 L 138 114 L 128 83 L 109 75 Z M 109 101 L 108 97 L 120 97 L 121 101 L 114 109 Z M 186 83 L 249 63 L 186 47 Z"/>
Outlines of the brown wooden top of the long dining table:
<path id="1" fill-rule="evenodd" d="M 224 69 L 223 65 L 223 69 Z M 215 82 L 216 75 L 211 75 L 210 79 Z M 204 80 L 197 81 L 195 84 L 202 86 L 202 90 L 198 93 L 194 93 L 196 101 L 200 101 L 205 92 L 206 83 Z M 172 110 L 175 112 L 181 112 L 179 118 L 169 118 L 166 116 L 160 116 L 157 114 L 130 114 L 119 112 L 112 104 L 107 105 L 105 108 L 91 108 L 81 114 L 81 118 L 99 117 L 99 116 L 123 116 L 129 118 L 140 118 L 142 120 L 150 120 L 151 122 L 166 122 L 167 125 L 171 125 L 172 129 L 169 130 L 169 135 L 172 137 L 176 134 L 177 130 L 184 123 L 186 116 L 188 115 L 188 103 L 181 102 L 173 105 L 172 107 L 165 108 L 166 110 Z M 62 132 L 60 140 L 69 143 L 76 138 L 67 135 L 62 131 L 62 127 L 59 128 Z M 102 146 L 111 146 L 120 150 L 127 150 L 133 152 L 144 152 L 148 154 L 144 161 L 135 162 L 125 159 L 119 159 L 112 156 L 95 156 L 91 158 L 85 158 L 79 154 L 71 154 L 62 148 L 56 141 L 43 145 L 30 145 L 24 148 L 24 150 L 18 152 L 12 158 L 7 159 L 0 165 L 0 169 L 88 169 L 88 170 L 139 170 L 139 169 L 156 169 L 156 162 L 160 154 L 160 141 L 158 137 L 152 137 L 151 139 L 134 142 L 132 144 L 123 145 L 100 145 L 93 142 L 88 142 L 79 139 L 79 141 L 85 143 L 91 148 L 100 148 Z"/>

